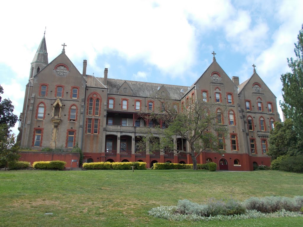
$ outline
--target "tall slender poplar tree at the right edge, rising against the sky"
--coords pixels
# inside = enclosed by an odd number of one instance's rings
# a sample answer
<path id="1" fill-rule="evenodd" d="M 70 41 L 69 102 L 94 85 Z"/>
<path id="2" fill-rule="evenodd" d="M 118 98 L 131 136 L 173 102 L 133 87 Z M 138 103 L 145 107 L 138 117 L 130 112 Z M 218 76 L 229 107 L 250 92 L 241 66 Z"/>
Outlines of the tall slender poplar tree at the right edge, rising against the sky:
<path id="1" fill-rule="evenodd" d="M 287 58 L 291 72 L 281 75 L 283 102 L 280 106 L 286 118 L 294 120 L 299 138 L 303 138 L 303 25 L 295 43 L 296 59 Z"/>

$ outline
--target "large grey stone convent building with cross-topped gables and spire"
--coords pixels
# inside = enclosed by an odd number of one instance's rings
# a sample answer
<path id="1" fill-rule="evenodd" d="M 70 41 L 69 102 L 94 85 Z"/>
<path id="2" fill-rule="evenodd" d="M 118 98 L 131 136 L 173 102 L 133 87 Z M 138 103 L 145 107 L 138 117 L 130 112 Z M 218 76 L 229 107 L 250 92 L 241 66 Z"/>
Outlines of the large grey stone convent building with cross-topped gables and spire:
<path id="1" fill-rule="evenodd" d="M 203 152 L 198 163 L 213 161 L 218 169 L 228 170 L 252 170 L 256 164 L 270 165 L 266 154 L 268 136 L 274 122 L 281 120 L 276 97 L 255 68 L 242 84 L 238 77 L 229 78 L 215 57 L 191 87 L 161 84 L 161 81 L 156 84 L 117 80 L 108 77 L 107 68 L 104 77 L 87 75 L 86 60 L 81 74 L 65 54 L 64 47 L 62 53 L 48 63 L 43 37 L 31 63 L 20 114 L 18 140 L 21 146 L 38 151 L 44 147 L 68 150 L 78 144 L 86 162 L 142 160 L 147 167 L 155 162 L 191 163 L 191 157 L 184 154 L 140 153 L 136 149 L 142 136 L 140 127 L 166 127 L 138 114 L 149 114 L 158 108 L 159 103 L 152 97 L 159 91 L 180 103 L 179 106 L 194 97 L 215 103 L 217 112 L 223 108 L 228 110 L 221 119 L 229 133 L 224 156 Z M 175 138 L 175 144 L 180 146 L 181 138 Z M 36 155 L 41 157 L 41 153 Z"/>

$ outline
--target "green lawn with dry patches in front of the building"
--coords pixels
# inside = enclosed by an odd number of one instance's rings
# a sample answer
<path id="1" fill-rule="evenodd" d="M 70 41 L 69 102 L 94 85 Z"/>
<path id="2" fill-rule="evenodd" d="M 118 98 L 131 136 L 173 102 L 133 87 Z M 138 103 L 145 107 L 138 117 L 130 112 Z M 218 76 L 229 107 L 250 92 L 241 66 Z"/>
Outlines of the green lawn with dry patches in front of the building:
<path id="1" fill-rule="evenodd" d="M 171 222 L 147 214 L 159 205 L 176 205 L 179 199 L 202 203 L 210 197 L 296 195 L 303 195 L 303 175 L 278 171 L 1 171 L 0 227 L 300 226 L 301 217 Z"/>

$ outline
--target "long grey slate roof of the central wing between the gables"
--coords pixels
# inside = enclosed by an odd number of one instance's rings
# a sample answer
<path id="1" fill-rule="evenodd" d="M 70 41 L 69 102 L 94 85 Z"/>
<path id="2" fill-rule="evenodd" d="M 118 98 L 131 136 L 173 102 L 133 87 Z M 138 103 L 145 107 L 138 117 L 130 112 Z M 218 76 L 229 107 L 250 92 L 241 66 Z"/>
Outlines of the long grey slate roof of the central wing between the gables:
<path id="1" fill-rule="evenodd" d="M 88 75 L 87 75 L 88 78 Z M 100 84 L 103 85 L 104 78 L 103 77 L 95 77 L 96 80 L 100 81 Z M 89 81 L 90 79 L 88 79 Z M 165 86 L 167 91 L 170 94 L 170 98 L 174 100 L 181 100 L 184 92 L 188 90 L 187 86 L 178 86 L 178 85 L 170 85 L 170 84 L 157 84 L 157 83 L 149 83 L 149 82 L 140 82 L 140 81 L 127 81 L 127 80 L 118 80 L 118 79 L 107 79 L 107 88 L 108 94 L 118 94 L 118 89 L 124 82 L 127 82 L 129 87 L 132 89 L 132 96 L 137 97 L 154 97 L 156 92 L 158 91 L 158 87 L 162 85 Z M 91 81 L 89 82 L 93 84 Z M 101 86 L 98 83 L 95 83 L 96 87 Z M 181 89 L 184 92 L 181 92 Z"/>

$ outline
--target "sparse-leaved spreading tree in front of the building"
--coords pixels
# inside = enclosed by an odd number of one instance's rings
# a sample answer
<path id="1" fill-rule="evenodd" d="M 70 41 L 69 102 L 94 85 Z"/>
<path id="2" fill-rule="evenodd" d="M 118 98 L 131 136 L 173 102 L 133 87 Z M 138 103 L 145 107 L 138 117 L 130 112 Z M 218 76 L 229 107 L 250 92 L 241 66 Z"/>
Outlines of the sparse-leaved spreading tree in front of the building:
<path id="1" fill-rule="evenodd" d="M 197 170 L 197 157 L 203 151 L 214 151 L 217 153 L 225 153 L 223 139 L 226 137 L 226 128 L 218 123 L 218 116 L 215 111 L 215 104 L 196 100 L 189 100 L 181 110 L 177 110 L 177 105 L 173 100 L 160 100 L 161 110 L 157 114 L 151 114 L 150 119 L 157 119 L 158 122 L 165 122 L 168 126 L 166 129 L 149 128 L 145 131 L 146 137 L 142 138 L 139 143 L 140 150 L 145 150 L 148 144 L 149 151 L 162 151 L 174 154 L 184 153 L 191 156 L 193 169 Z M 165 104 L 165 107 L 164 105 Z M 222 111 L 222 114 L 224 112 Z M 220 118 L 221 119 L 221 118 Z M 182 146 L 176 147 L 174 137 L 182 138 Z M 188 143 L 188 150 L 183 150 L 185 144 Z"/>

